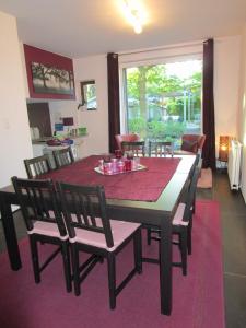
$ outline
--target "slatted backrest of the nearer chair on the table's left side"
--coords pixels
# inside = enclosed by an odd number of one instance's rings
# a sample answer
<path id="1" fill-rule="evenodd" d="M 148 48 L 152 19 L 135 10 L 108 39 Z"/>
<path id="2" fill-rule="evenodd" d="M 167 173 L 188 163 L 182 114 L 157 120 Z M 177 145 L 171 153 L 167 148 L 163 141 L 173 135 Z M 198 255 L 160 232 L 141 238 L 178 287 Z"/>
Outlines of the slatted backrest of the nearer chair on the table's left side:
<path id="1" fill-rule="evenodd" d="M 48 155 L 42 155 L 34 159 L 24 160 L 25 169 L 30 179 L 51 171 Z"/>

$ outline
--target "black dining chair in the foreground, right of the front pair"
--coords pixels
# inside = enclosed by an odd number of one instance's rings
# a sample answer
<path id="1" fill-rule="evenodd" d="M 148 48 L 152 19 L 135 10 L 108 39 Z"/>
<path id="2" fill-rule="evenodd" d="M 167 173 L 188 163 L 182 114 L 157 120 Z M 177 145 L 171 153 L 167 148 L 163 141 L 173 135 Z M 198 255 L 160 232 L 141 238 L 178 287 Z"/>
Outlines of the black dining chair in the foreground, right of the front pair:
<path id="1" fill-rule="evenodd" d="M 142 271 L 140 224 L 109 220 L 102 186 L 74 186 L 58 183 L 57 189 L 60 192 L 71 244 L 75 295 L 80 295 L 80 284 L 96 262 L 106 258 L 109 305 L 114 309 L 116 296 L 137 272 Z M 132 239 L 134 267 L 116 286 L 116 255 Z M 80 265 L 79 260 L 80 250 L 92 254 L 83 265 Z"/>

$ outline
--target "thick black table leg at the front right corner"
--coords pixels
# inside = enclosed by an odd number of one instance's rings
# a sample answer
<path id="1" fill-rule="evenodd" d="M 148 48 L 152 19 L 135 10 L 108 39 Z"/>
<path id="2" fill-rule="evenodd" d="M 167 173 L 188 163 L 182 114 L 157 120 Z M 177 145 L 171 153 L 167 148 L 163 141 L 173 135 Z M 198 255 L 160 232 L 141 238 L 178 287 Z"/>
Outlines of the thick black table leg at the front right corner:
<path id="1" fill-rule="evenodd" d="M 172 312 L 172 220 L 161 223 L 160 241 L 160 292 L 161 313 L 171 315 Z"/>

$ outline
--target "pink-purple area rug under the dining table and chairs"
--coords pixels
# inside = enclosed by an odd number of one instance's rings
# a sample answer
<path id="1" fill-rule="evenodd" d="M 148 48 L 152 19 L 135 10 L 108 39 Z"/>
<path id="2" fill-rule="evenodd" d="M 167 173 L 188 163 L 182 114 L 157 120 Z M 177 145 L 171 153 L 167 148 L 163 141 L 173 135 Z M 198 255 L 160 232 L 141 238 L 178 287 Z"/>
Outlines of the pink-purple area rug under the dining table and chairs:
<path id="1" fill-rule="evenodd" d="M 159 267 L 143 263 L 109 309 L 106 261 L 98 263 L 75 297 L 65 291 L 61 261 L 58 258 L 34 283 L 27 239 L 21 243 L 23 269 L 13 272 L 7 254 L 0 256 L 0 327 L 2 328 L 95 328 L 165 327 L 223 328 L 224 297 L 220 209 L 214 201 L 197 201 L 194 218 L 194 251 L 188 257 L 188 276 L 173 270 L 173 313 L 160 314 Z M 120 277 L 131 263 L 131 248 L 117 260 Z M 43 246 L 42 248 L 50 247 Z M 145 244 L 144 255 L 157 254 L 157 245 Z M 177 256 L 177 254 L 175 254 Z"/>

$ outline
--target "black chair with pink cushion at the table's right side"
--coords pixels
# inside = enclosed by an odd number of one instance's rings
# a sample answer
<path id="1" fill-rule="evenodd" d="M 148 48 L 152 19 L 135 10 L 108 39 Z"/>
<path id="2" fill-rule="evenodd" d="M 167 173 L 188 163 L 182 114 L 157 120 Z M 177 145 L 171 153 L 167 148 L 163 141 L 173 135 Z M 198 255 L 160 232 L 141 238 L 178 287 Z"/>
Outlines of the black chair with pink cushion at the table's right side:
<path id="1" fill-rule="evenodd" d="M 175 215 L 173 218 L 172 233 L 178 235 L 178 241 L 174 241 L 173 244 L 178 245 L 180 250 L 180 262 L 173 262 L 175 267 L 181 267 L 183 274 L 187 274 L 187 253 L 191 254 L 191 231 L 192 231 L 192 214 L 194 214 L 194 199 L 196 196 L 197 181 L 201 171 L 200 160 L 198 165 L 195 167 L 192 177 L 187 181 L 185 189 L 185 198 L 177 207 Z M 160 230 L 155 227 L 148 227 L 148 244 L 151 241 L 160 241 Z"/>

